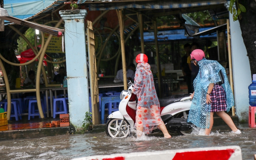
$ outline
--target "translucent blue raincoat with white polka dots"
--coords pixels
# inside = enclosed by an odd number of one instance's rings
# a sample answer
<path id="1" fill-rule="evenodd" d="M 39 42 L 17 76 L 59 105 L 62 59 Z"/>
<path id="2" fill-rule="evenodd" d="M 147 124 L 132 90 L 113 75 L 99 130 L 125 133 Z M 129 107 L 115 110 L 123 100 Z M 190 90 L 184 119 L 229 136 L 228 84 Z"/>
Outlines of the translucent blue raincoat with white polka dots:
<path id="1" fill-rule="evenodd" d="M 194 65 L 194 64 L 192 64 Z M 195 94 L 189 111 L 188 122 L 192 122 L 200 128 L 209 128 L 211 104 L 206 104 L 206 92 L 210 83 L 220 82 L 219 71 L 224 75 L 224 82 L 221 86 L 225 89 L 227 98 L 227 112 L 234 106 L 234 96 L 228 82 L 225 68 L 217 61 L 206 60 L 198 61 L 199 73 L 194 80 Z"/>

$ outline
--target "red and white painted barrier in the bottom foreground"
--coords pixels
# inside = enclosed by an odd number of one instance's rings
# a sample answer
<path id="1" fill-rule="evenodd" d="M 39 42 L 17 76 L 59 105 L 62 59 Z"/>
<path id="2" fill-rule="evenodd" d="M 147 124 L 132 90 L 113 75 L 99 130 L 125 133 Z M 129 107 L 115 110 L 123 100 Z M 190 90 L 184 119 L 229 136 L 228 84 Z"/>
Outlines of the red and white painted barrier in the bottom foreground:
<path id="1" fill-rule="evenodd" d="M 95 155 L 73 160 L 242 160 L 239 146 Z"/>

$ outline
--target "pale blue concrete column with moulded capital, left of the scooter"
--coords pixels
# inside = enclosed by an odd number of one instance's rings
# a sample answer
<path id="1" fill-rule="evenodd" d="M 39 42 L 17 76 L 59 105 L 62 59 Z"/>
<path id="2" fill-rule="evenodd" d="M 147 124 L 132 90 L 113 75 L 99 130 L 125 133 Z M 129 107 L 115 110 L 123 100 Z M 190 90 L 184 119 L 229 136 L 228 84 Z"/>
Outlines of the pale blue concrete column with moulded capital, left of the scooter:
<path id="1" fill-rule="evenodd" d="M 81 128 L 85 112 L 89 111 L 89 90 L 86 65 L 85 17 L 86 10 L 61 10 L 65 22 L 65 50 L 69 120 Z"/>

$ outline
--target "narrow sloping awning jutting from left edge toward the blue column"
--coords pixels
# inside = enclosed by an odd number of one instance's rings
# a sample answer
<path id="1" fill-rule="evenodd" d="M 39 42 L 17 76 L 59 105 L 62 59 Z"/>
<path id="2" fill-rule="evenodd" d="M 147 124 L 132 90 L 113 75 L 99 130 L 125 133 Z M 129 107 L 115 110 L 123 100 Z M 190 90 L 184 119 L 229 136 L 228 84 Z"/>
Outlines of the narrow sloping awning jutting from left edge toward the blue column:
<path id="1" fill-rule="evenodd" d="M 45 26 L 43 24 L 29 22 L 27 20 L 22 20 L 22 19 L 18 19 L 16 17 L 12 17 L 7 13 L 7 10 L 5 10 L 3 8 L 0 8 L 0 19 L 8 20 L 10 22 L 13 22 L 13 23 L 16 23 L 16 24 L 19 24 L 22 26 L 30 27 L 33 29 L 38 29 L 39 31 L 46 32 L 46 33 L 52 34 L 54 36 L 61 36 L 62 33 L 64 33 L 64 29 Z"/>

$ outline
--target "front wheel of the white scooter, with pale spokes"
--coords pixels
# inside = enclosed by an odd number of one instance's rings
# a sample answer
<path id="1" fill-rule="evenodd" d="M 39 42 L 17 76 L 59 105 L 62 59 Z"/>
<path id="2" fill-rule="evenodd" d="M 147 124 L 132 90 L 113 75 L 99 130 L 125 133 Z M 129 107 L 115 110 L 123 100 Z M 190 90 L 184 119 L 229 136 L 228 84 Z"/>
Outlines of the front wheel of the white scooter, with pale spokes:
<path id="1" fill-rule="evenodd" d="M 109 119 L 106 123 L 106 134 L 112 138 L 125 138 L 130 133 L 130 126 L 127 121 L 123 121 L 123 124 L 120 124 L 122 119 Z M 121 128 L 119 126 L 121 125 Z"/>

